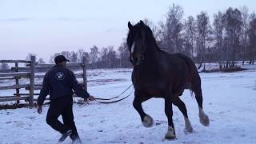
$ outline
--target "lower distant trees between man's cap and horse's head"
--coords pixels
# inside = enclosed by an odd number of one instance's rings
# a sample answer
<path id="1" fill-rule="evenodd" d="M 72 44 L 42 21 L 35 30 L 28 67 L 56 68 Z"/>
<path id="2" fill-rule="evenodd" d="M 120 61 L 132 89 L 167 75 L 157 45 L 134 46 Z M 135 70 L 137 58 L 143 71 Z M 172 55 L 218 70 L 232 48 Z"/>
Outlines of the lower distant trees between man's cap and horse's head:
<path id="1" fill-rule="evenodd" d="M 131 64 L 129 62 L 129 51 L 126 46 L 126 42 L 123 42 L 118 50 L 114 49 L 114 46 L 102 47 L 98 46 L 90 47 L 90 51 L 86 52 L 83 49 L 78 51 L 62 51 L 60 53 L 55 53 L 50 56 L 50 63 L 54 63 L 54 58 L 62 54 L 70 62 L 82 62 L 83 57 L 86 58 L 86 66 L 91 69 L 95 68 L 127 68 Z"/>

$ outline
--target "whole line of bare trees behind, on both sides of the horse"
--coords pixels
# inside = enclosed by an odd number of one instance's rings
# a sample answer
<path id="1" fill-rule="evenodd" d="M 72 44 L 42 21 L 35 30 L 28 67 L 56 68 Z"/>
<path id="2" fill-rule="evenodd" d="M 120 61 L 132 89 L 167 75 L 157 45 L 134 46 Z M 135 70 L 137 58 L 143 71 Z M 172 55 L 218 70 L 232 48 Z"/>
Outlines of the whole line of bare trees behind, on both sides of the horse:
<path id="1" fill-rule="evenodd" d="M 186 54 L 203 70 L 207 62 L 218 62 L 219 69 L 235 67 L 238 61 L 254 64 L 256 14 L 250 13 L 247 6 L 218 11 L 212 18 L 206 11 L 184 18 L 182 6 L 173 4 L 162 21 L 154 24 L 144 19 L 144 22 L 150 26 L 162 50 Z M 86 57 L 89 68 L 131 66 L 126 39 L 118 48 L 91 46 L 90 51 L 79 49 L 55 53 L 50 56 L 50 63 L 54 63 L 54 57 L 58 54 L 65 55 L 70 62 L 82 62 L 82 57 Z M 31 55 L 28 54 L 26 59 L 30 59 Z M 44 60 L 39 58 L 37 62 L 44 63 Z"/>

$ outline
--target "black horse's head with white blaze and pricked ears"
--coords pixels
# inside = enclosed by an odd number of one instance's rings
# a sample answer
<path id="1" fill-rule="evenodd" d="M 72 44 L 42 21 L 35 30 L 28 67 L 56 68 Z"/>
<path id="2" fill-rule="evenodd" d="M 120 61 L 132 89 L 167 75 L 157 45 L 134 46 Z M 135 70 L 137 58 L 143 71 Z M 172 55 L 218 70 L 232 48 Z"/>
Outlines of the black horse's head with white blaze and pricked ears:
<path id="1" fill-rule="evenodd" d="M 138 66 L 144 59 L 147 49 L 147 37 L 152 34 L 152 31 L 142 20 L 134 26 L 128 22 L 128 27 L 129 33 L 126 43 L 130 50 L 130 62 L 134 66 Z"/>

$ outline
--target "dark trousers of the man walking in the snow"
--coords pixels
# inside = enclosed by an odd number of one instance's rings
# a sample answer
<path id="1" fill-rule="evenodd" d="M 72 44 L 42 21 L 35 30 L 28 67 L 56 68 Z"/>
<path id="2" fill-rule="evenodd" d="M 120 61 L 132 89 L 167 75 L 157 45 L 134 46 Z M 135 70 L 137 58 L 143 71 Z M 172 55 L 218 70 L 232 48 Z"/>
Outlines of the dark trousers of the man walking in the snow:
<path id="1" fill-rule="evenodd" d="M 54 130 L 64 134 L 67 130 L 72 130 L 70 138 L 72 140 L 79 138 L 77 128 L 74 124 L 74 114 L 72 110 L 73 99 L 71 95 L 57 98 L 50 101 L 50 108 L 46 116 L 46 122 Z M 58 117 L 62 115 L 62 122 L 58 121 Z"/>

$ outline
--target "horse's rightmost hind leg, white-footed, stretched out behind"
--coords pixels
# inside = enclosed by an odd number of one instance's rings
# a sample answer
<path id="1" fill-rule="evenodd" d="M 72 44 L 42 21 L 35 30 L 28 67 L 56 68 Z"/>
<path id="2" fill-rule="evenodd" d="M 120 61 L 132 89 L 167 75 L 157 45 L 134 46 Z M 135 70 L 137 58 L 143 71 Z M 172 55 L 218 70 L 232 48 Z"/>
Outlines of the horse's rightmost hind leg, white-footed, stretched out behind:
<path id="1" fill-rule="evenodd" d="M 197 82 L 193 82 L 192 90 L 194 91 L 195 98 L 198 102 L 198 109 L 199 109 L 198 115 L 200 118 L 200 122 L 202 123 L 203 126 L 209 126 L 210 125 L 209 118 L 204 113 L 204 111 L 202 109 L 202 89 L 201 89 L 201 79 L 200 78 L 198 78 Z"/>

